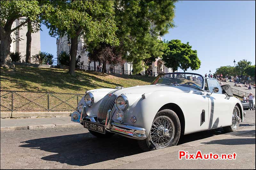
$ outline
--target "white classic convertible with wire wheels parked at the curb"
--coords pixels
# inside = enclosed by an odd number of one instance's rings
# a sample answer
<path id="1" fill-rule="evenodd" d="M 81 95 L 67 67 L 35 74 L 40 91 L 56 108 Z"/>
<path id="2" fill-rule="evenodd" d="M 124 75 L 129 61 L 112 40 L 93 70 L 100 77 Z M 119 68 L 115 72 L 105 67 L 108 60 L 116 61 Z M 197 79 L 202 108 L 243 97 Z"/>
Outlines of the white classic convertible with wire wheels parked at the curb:
<path id="1" fill-rule="evenodd" d="M 180 135 L 220 127 L 236 131 L 243 116 L 229 85 L 175 72 L 157 76 L 151 85 L 86 91 L 71 120 L 96 137 L 119 134 L 150 151 L 176 145 Z"/>

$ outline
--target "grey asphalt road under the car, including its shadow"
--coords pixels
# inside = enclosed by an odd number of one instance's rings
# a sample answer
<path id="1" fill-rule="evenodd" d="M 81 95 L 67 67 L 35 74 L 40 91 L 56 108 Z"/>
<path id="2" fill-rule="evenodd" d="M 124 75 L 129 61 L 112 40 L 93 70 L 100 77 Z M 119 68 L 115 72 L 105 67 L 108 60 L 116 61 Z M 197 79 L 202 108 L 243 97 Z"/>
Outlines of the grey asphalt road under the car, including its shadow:
<path id="1" fill-rule="evenodd" d="M 246 113 L 240 128 L 255 126 L 255 110 Z M 223 133 L 221 128 L 193 133 L 178 144 Z M 83 127 L 3 132 L 0 138 L 1 169 L 70 169 L 142 152 L 136 140 L 100 139 Z"/>

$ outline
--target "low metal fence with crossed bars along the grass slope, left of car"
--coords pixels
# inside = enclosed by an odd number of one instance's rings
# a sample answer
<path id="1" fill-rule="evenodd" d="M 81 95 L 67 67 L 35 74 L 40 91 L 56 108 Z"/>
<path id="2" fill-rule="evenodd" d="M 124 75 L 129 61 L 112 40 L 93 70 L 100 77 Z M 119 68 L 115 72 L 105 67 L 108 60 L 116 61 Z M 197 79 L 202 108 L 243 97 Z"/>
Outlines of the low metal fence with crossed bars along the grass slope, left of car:
<path id="1" fill-rule="evenodd" d="M 0 90 L 0 111 L 72 111 L 84 94 Z"/>

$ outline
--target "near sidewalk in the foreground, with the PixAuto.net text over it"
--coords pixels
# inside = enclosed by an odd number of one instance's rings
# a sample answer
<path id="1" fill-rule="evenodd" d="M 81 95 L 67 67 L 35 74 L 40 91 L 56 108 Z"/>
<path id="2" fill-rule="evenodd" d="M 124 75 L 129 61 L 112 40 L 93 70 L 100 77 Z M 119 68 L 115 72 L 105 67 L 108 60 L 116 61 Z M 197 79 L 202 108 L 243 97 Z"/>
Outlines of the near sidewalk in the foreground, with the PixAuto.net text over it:
<path id="1" fill-rule="evenodd" d="M 179 160 L 179 151 L 189 154 L 233 154 L 232 160 Z M 144 152 L 74 169 L 255 169 L 255 126 L 237 132 L 213 136 L 172 146 L 162 150 Z"/>

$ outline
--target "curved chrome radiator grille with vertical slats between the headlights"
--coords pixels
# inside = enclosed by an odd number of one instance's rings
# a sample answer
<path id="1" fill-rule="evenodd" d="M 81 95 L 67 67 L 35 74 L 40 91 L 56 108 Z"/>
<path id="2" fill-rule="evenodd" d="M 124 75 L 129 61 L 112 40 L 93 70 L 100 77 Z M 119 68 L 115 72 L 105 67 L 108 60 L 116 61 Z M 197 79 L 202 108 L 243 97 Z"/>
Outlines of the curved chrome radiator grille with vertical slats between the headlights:
<path id="1" fill-rule="evenodd" d="M 108 94 L 101 100 L 97 116 L 98 122 L 106 120 L 108 110 L 113 109 L 116 98 L 117 96 L 111 93 L 111 95 Z"/>

